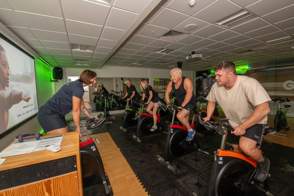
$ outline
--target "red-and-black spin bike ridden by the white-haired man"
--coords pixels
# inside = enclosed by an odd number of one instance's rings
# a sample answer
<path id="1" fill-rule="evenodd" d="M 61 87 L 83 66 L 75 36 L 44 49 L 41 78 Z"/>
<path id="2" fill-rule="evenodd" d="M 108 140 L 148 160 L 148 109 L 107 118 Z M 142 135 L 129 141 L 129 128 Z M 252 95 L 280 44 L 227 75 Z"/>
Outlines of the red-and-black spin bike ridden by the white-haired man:
<path id="1" fill-rule="evenodd" d="M 170 106 L 168 107 L 163 105 L 160 101 L 158 101 L 157 104 L 163 110 L 168 110 L 169 112 L 173 113 L 173 119 L 168 128 L 168 135 L 166 138 L 166 146 L 164 150 L 164 158 L 162 158 L 160 155 L 157 155 L 158 160 L 165 163 L 168 169 L 171 169 L 172 171 L 176 172 L 178 169 L 169 163 L 171 160 L 174 160 L 184 154 L 191 153 L 195 150 L 198 150 L 199 152 L 209 156 L 209 153 L 200 149 L 199 142 L 195 136 L 192 140 L 186 141 L 188 135 L 187 128 L 174 124 L 176 110 L 182 109 L 177 108 L 175 103 L 170 103 Z M 195 115 L 197 114 L 195 113 L 194 116 Z M 191 123 L 191 128 L 194 128 L 194 118 Z"/>

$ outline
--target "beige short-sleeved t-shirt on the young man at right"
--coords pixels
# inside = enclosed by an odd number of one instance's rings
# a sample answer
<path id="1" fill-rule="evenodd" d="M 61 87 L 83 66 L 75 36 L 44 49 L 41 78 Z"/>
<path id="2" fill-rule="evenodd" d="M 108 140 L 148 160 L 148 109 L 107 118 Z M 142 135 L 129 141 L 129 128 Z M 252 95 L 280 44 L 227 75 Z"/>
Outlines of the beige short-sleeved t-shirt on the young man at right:
<path id="1" fill-rule="evenodd" d="M 206 99 L 218 102 L 233 127 L 243 123 L 253 113 L 256 105 L 271 100 L 261 84 L 247 76 L 238 76 L 235 85 L 229 90 L 214 83 Z M 267 121 L 266 115 L 257 124 L 266 124 Z"/>

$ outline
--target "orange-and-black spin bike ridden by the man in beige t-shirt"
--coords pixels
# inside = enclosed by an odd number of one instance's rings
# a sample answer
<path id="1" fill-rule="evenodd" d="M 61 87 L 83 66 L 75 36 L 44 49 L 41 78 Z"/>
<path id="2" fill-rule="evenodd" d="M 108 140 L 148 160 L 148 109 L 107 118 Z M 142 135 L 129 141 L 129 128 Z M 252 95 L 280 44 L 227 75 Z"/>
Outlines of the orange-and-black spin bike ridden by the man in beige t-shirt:
<path id="1" fill-rule="evenodd" d="M 220 149 L 214 151 L 214 162 L 211 169 L 211 176 L 208 186 L 208 196 L 237 196 L 237 195 L 271 195 L 267 180 L 259 182 L 255 180 L 256 161 L 245 155 L 233 152 L 234 148 L 224 150 L 228 131 L 235 129 L 228 124 L 229 119 L 218 118 L 223 124 L 213 121 L 204 122 L 201 115 L 198 115 L 199 122 L 208 130 L 215 130 L 223 135 Z M 228 130 L 224 130 L 225 129 Z M 265 133 L 274 134 L 274 128 L 266 128 Z M 261 140 L 262 141 L 262 140 Z M 260 144 L 257 144 L 260 149 Z M 270 174 L 267 174 L 270 176 Z"/>

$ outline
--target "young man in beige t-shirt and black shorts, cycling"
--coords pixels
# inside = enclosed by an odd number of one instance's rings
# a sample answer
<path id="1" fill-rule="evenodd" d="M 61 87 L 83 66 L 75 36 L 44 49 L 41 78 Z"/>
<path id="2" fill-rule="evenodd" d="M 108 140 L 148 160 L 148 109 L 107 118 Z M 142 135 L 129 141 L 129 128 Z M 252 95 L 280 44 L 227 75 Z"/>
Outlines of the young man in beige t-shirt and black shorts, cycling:
<path id="1" fill-rule="evenodd" d="M 211 116 L 218 102 L 230 125 L 234 152 L 243 152 L 257 162 L 255 179 L 263 182 L 268 177 L 270 161 L 263 157 L 256 144 L 260 143 L 270 111 L 270 97 L 254 78 L 237 76 L 232 61 L 222 61 L 213 68 L 216 83 L 207 96 L 207 116 Z M 204 120 L 209 120 L 206 117 Z"/>

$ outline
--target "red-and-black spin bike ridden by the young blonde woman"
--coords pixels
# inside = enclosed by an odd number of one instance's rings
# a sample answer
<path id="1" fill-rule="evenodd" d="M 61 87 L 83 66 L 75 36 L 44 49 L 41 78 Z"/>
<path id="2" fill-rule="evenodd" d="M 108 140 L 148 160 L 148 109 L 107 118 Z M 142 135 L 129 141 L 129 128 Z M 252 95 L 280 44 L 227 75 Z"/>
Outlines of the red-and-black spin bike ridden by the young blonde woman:
<path id="1" fill-rule="evenodd" d="M 145 104 L 144 101 L 140 100 L 139 104 L 141 106 L 140 107 L 141 111 L 143 111 L 144 104 Z M 157 129 L 155 131 L 150 131 L 150 129 L 152 128 L 154 124 L 153 115 L 141 112 L 139 116 L 139 120 L 138 120 L 138 125 L 137 125 L 137 135 L 134 134 L 133 138 L 136 138 L 138 142 L 141 142 L 142 141 L 140 139 L 141 137 L 144 137 L 146 135 L 151 135 L 154 133 L 164 132 L 164 127 L 162 123 L 160 122 L 159 117 L 160 117 L 160 108 L 158 109 L 158 112 L 157 112 L 157 122 L 156 122 Z"/>

